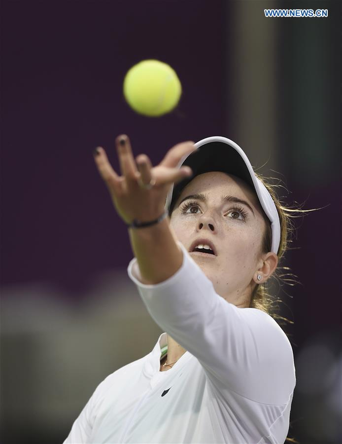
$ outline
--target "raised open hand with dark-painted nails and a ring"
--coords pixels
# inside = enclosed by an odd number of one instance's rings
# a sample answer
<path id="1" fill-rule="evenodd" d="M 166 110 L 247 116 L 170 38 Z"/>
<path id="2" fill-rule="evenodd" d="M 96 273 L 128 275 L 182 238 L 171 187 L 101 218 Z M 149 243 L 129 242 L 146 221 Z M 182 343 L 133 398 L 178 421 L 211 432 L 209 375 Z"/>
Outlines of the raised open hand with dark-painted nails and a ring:
<path id="1" fill-rule="evenodd" d="M 192 175 L 191 168 L 186 166 L 178 169 L 177 165 L 185 154 L 197 149 L 194 142 L 175 145 L 155 167 L 152 167 L 146 154 L 139 154 L 134 159 L 127 135 L 118 136 L 115 143 L 122 176 L 113 170 L 102 147 L 96 148 L 94 155 L 117 213 L 128 224 L 134 219 L 141 222 L 157 219 L 164 212 L 171 185 Z M 154 185 L 147 189 L 142 184 Z"/>

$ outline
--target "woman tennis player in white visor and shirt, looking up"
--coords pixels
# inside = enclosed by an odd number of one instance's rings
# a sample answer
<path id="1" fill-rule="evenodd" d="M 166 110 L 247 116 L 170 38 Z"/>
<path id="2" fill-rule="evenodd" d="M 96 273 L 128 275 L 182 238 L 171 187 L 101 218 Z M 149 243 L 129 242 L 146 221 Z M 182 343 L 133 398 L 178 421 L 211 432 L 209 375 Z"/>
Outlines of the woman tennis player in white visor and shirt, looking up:
<path id="1" fill-rule="evenodd" d="M 156 167 L 127 135 L 116 147 L 121 176 L 101 147 L 95 162 L 164 333 L 100 383 L 64 443 L 284 443 L 293 352 L 260 290 L 286 244 L 279 201 L 225 137 L 180 143 Z"/>

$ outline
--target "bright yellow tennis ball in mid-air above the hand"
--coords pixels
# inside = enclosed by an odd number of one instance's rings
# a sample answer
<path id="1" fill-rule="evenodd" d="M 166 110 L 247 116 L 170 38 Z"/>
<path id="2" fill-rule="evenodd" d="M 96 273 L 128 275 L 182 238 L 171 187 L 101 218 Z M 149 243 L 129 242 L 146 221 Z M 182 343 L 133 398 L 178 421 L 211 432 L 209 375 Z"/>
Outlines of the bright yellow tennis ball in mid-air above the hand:
<path id="1" fill-rule="evenodd" d="M 170 65 L 149 59 L 142 60 L 127 72 L 123 92 L 134 111 L 158 117 L 177 106 L 182 85 Z"/>

